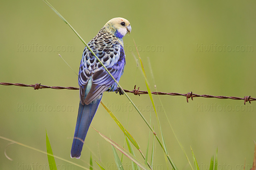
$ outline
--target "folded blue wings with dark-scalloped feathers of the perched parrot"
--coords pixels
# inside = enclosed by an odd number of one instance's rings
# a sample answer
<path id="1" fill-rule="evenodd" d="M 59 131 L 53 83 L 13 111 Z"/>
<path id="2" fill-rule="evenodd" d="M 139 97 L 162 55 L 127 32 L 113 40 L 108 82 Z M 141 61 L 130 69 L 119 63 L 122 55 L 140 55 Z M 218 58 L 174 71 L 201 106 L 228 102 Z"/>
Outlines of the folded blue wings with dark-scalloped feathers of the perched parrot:
<path id="1" fill-rule="evenodd" d="M 95 48 L 91 45 L 93 52 L 99 57 L 112 76 L 119 81 L 125 67 L 125 53 L 122 45 L 115 42 L 111 47 Z M 116 83 L 108 74 L 99 61 L 88 51 L 84 49 L 84 55 L 79 69 L 80 101 L 88 105 L 93 102 L 100 94 L 111 87 L 116 90 Z"/>

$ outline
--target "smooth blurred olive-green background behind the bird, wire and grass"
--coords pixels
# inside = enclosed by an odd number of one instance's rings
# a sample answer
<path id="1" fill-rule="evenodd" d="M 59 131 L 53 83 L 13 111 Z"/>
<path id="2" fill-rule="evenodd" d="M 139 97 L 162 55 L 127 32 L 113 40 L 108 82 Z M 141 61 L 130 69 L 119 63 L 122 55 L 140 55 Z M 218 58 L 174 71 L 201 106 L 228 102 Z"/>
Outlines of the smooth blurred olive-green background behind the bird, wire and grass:
<path id="1" fill-rule="evenodd" d="M 61 1 L 51 3 L 81 37 L 89 42 L 113 17 L 130 21 L 132 32 L 124 37 L 126 67 L 120 79 L 124 89 L 134 85 L 146 90 L 137 68 L 135 40 L 145 71 L 155 91 L 256 97 L 256 2 L 254 0 L 216 1 Z M 41 0 L 2 1 L 0 6 L 0 82 L 78 87 L 76 71 L 84 44 L 73 31 Z M 149 65 L 149 61 L 151 67 Z M 151 75 L 153 72 L 154 80 Z M 154 83 L 155 82 L 155 83 Z M 79 106 L 79 91 L 0 86 L 0 136 L 46 151 L 45 130 L 53 153 L 89 167 L 93 159 L 108 170 L 116 169 L 111 144 L 89 129 L 81 159 L 71 159 L 70 149 Z M 157 127 L 148 95 L 129 94 L 145 118 Z M 246 170 L 253 162 L 256 140 L 256 102 L 244 106 L 231 99 L 160 96 L 163 108 L 191 163 L 190 146 L 201 170 L 218 147 L 219 170 Z M 149 129 L 135 109 L 129 111 L 125 96 L 105 93 L 102 101 L 113 111 L 146 151 Z M 172 133 L 154 96 L 169 155 L 179 170 L 189 170 L 188 161 Z M 100 105 L 91 124 L 120 145 L 124 135 Z M 157 134 L 159 131 L 156 129 Z M 0 139 L 0 169 L 49 169 L 47 156 L 35 150 Z M 152 133 L 151 141 L 152 145 Z M 127 147 L 125 147 L 127 148 Z M 10 161 L 4 155 L 13 159 Z M 135 148 L 134 148 L 135 149 Z M 154 169 L 167 170 L 163 151 L 156 144 Z M 118 152 L 119 153 L 119 152 Z M 136 150 L 137 158 L 142 160 Z M 121 154 L 119 153 L 119 156 Z M 58 169 L 81 168 L 55 159 Z M 124 158 L 125 169 L 131 161 Z M 96 163 L 94 167 L 99 170 Z"/>

